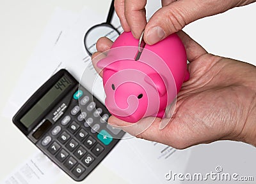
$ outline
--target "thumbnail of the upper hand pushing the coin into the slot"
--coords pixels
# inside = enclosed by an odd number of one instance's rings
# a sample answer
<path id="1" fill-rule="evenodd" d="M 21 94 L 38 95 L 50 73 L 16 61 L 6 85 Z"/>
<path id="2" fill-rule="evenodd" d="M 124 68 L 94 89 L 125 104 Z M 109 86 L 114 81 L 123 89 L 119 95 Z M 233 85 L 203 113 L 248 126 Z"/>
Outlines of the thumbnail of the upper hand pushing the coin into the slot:
<path id="1" fill-rule="evenodd" d="M 147 36 L 146 36 L 146 41 L 148 42 L 149 45 L 153 45 L 163 39 L 165 36 L 165 32 L 163 29 L 159 26 L 152 27 L 148 30 Z"/>

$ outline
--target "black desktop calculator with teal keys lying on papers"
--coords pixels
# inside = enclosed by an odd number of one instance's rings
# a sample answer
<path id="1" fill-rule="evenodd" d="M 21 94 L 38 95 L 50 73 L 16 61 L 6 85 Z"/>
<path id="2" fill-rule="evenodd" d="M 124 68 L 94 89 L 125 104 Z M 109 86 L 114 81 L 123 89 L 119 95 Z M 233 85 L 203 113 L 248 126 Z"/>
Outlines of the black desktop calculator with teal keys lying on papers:
<path id="1" fill-rule="evenodd" d="M 125 132 L 107 124 L 104 104 L 61 69 L 36 90 L 13 123 L 73 180 L 82 181 Z"/>

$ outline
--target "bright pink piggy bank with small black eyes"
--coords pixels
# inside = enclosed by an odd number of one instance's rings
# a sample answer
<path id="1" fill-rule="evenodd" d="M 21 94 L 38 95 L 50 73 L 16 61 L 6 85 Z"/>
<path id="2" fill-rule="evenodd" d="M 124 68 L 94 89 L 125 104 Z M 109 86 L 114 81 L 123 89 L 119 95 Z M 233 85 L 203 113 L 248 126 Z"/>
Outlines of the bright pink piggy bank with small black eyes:
<path id="1" fill-rule="evenodd" d="M 189 79 L 186 50 L 177 34 L 155 45 L 145 45 L 138 55 L 138 39 L 123 32 L 97 66 L 103 70 L 105 104 L 126 122 L 143 117 L 164 117 L 182 83 Z"/>

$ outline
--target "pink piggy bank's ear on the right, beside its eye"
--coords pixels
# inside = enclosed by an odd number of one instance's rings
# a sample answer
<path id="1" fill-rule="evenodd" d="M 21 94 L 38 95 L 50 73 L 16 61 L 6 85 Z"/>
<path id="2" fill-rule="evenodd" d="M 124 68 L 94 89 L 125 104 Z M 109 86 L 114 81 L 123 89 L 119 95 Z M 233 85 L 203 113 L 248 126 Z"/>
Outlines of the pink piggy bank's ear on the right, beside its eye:
<path id="1" fill-rule="evenodd" d="M 161 76 L 159 76 L 159 74 L 157 74 L 157 73 L 147 74 L 147 76 L 145 76 L 144 80 L 148 84 L 152 85 L 153 87 L 156 87 L 160 96 L 163 96 L 164 94 L 166 94 L 166 87 L 164 85 L 163 78 L 161 78 Z"/>

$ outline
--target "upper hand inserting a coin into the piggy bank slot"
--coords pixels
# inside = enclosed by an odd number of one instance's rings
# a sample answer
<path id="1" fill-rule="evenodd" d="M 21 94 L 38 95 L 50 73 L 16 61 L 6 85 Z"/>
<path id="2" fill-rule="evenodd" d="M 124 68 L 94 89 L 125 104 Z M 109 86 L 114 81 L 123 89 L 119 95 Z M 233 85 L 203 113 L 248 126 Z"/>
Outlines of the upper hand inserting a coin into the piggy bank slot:
<path id="1" fill-rule="evenodd" d="M 255 0 L 162 0 L 163 8 L 156 11 L 148 23 L 147 0 L 115 0 L 115 10 L 124 31 L 132 31 L 138 39 L 145 29 L 144 40 L 153 45 L 195 20 L 253 2 Z"/>

